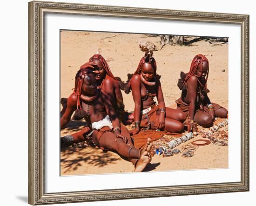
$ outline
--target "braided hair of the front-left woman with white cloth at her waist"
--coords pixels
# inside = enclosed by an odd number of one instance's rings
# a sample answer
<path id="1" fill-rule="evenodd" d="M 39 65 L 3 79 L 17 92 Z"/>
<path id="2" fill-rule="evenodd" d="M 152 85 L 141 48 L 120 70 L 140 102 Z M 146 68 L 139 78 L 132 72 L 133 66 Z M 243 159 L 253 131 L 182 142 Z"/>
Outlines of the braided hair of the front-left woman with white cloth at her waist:
<path id="1" fill-rule="evenodd" d="M 76 106 L 77 109 L 82 109 L 82 106 L 80 104 L 80 96 L 83 93 L 83 82 L 84 82 L 84 78 L 88 75 L 88 74 L 93 74 L 93 71 L 90 69 L 80 69 L 76 75 L 75 75 L 75 83 L 74 83 L 74 91 L 73 93 L 76 95 Z"/>

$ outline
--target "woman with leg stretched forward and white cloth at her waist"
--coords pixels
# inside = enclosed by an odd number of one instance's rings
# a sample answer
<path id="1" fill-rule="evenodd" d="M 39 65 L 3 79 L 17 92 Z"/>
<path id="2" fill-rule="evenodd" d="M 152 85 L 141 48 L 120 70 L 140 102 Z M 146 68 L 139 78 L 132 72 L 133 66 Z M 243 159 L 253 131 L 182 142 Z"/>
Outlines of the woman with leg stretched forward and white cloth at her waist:
<path id="1" fill-rule="evenodd" d="M 85 119 L 90 126 L 62 137 L 61 147 L 90 139 L 102 150 L 116 151 L 128 158 L 134 164 L 135 172 L 141 172 L 151 161 L 150 139 L 144 149 L 136 149 L 127 128 L 117 118 L 110 95 L 97 86 L 91 70 L 81 69 L 77 72 L 74 88 L 76 106 L 85 112 Z"/>

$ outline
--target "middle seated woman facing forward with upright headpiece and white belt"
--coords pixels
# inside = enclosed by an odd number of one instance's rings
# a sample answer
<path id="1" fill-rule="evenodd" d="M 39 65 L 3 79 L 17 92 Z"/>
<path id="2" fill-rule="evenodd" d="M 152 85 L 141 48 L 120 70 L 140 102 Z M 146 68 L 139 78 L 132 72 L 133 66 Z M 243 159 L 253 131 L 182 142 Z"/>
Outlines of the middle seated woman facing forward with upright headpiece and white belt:
<path id="1" fill-rule="evenodd" d="M 140 127 L 181 133 L 184 129 L 182 122 L 186 120 L 186 114 L 165 107 L 161 83 L 156 74 L 156 62 L 152 54 L 146 52 L 141 58 L 137 70 L 125 89 L 126 93 L 132 90 L 135 102 L 133 134 L 139 133 Z M 154 97 L 157 98 L 158 106 Z"/>

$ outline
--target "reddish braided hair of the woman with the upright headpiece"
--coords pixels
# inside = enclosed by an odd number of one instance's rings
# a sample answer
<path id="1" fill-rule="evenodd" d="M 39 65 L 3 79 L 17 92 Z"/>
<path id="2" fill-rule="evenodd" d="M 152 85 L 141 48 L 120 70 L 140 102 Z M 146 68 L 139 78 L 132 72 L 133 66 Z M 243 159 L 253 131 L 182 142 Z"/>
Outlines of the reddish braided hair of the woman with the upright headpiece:
<path id="1" fill-rule="evenodd" d="M 155 62 L 155 59 L 154 59 L 154 57 L 152 57 L 152 55 L 150 55 L 148 53 L 146 53 L 145 56 L 143 56 L 141 58 L 140 63 L 139 63 L 139 65 L 138 65 L 138 67 L 137 67 L 137 69 L 136 69 L 136 71 L 135 71 L 135 73 L 133 75 L 141 74 L 141 68 L 142 68 L 142 66 L 145 63 L 151 64 L 151 66 L 154 69 L 154 76 L 158 77 L 158 74 L 156 73 L 156 62 Z M 128 81 L 128 84 L 125 86 L 125 89 L 124 89 L 124 92 L 127 93 L 127 94 L 130 93 L 130 91 L 131 91 L 131 80 L 132 80 L 132 76 L 131 76 L 131 79 Z"/>

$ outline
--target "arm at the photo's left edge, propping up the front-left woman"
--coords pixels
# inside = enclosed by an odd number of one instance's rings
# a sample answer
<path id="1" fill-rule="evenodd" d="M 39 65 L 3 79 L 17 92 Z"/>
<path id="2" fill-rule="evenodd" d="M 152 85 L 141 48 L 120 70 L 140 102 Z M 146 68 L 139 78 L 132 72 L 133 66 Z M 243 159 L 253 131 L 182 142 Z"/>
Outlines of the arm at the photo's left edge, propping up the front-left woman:
<path id="1" fill-rule="evenodd" d="M 70 118 L 76 110 L 76 95 L 72 93 L 67 99 L 67 109 L 61 117 L 61 129 L 70 121 Z"/>

